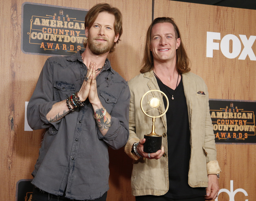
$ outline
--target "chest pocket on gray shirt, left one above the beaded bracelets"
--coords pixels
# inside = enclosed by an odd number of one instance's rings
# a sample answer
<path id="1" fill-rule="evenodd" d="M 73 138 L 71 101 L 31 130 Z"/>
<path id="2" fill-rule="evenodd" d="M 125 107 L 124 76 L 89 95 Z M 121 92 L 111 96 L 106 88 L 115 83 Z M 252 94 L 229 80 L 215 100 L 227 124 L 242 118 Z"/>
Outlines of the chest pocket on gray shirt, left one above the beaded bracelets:
<path id="1" fill-rule="evenodd" d="M 55 81 L 55 98 L 57 101 L 61 101 L 71 96 L 76 90 L 76 84 L 64 81 Z"/>

